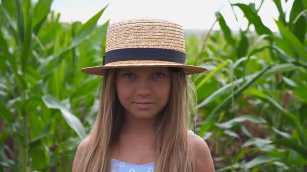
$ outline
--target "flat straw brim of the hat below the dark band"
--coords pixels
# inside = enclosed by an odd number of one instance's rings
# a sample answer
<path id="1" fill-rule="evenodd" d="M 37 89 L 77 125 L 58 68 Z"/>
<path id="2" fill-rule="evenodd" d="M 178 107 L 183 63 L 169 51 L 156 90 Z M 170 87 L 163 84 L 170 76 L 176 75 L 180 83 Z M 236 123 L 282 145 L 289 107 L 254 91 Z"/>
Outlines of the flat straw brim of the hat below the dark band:
<path id="1" fill-rule="evenodd" d="M 206 72 L 207 68 L 199 67 L 199 66 L 193 66 L 193 65 L 186 65 L 186 64 L 180 64 L 180 63 L 174 63 L 174 62 L 152 62 L 147 60 L 138 60 L 137 62 L 124 62 L 120 64 L 107 64 L 105 66 L 92 66 L 92 67 L 85 67 L 82 68 L 81 71 L 88 74 L 94 74 L 99 76 L 105 75 L 105 69 L 113 69 L 113 68 L 133 68 L 133 67 L 179 67 L 183 68 L 183 72 L 187 75 L 189 74 L 196 74 L 196 73 L 202 73 Z"/>

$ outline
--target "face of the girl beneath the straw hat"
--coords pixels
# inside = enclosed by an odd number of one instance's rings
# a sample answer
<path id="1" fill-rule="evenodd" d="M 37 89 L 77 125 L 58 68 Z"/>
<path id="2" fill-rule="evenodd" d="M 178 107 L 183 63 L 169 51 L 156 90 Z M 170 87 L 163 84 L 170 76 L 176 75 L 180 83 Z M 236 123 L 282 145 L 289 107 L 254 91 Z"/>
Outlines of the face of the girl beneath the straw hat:
<path id="1" fill-rule="evenodd" d="M 168 102 L 170 85 L 166 67 L 120 68 L 116 75 L 118 99 L 126 115 L 139 119 L 157 117 Z"/>

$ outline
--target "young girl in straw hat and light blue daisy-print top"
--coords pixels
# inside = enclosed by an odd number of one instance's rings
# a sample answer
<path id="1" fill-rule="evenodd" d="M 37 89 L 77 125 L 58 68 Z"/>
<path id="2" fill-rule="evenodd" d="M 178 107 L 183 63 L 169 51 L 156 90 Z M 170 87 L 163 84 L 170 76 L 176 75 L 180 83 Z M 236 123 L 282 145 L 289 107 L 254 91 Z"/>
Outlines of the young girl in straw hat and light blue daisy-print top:
<path id="1" fill-rule="evenodd" d="M 183 29 L 173 22 L 135 19 L 108 27 L 96 120 L 77 148 L 73 171 L 214 171 L 209 148 L 188 128 L 188 74 Z"/>

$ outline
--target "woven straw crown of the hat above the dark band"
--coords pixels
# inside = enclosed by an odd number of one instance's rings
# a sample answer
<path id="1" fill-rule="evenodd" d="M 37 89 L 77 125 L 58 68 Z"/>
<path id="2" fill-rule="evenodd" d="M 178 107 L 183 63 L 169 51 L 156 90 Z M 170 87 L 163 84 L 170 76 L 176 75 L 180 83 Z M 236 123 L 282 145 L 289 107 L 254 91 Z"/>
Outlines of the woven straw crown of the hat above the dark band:
<path id="1" fill-rule="evenodd" d="M 161 20 L 128 20 L 110 25 L 106 52 L 121 48 L 165 48 L 185 52 L 180 25 Z"/>

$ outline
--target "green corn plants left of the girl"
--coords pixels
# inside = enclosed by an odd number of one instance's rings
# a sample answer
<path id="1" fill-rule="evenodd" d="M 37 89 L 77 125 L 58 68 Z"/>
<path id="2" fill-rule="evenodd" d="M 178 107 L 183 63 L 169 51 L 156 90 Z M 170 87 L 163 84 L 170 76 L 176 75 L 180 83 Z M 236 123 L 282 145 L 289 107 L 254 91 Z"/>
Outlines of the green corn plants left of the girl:
<path id="1" fill-rule="evenodd" d="M 94 97 L 86 96 L 101 78 L 79 71 L 104 53 L 108 22 L 96 23 L 105 8 L 68 24 L 50 12 L 52 2 L 1 1 L 1 171 L 69 171 L 85 137 L 79 117 L 90 113 Z"/>

